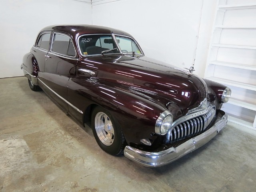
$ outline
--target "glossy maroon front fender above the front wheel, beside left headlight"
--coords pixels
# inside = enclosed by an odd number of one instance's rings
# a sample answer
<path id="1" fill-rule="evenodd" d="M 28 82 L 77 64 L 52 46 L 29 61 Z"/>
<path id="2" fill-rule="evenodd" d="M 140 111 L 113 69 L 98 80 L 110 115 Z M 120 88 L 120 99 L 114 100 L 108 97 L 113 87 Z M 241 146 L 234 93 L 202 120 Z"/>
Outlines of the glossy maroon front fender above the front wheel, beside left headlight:
<path id="1" fill-rule="evenodd" d="M 161 138 L 154 133 L 155 124 L 167 109 L 116 84 L 76 76 L 68 82 L 68 100 L 82 111 L 91 104 L 106 108 L 120 124 L 129 145 L 140 145 L 143 138 L 153 143 Z"/>

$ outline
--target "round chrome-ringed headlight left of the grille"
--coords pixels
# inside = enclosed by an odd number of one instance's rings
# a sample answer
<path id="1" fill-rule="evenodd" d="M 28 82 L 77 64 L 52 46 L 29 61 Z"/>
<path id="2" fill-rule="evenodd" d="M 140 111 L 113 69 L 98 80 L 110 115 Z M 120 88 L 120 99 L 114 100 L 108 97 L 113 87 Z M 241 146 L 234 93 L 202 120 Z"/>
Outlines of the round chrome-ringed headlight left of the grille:
<path id="1" fill-rule="evenodd" d="M 155 132 L 164 135 L 172 128 L 173 116 L 169 111 L 164 111 L 156 120 Z"/>

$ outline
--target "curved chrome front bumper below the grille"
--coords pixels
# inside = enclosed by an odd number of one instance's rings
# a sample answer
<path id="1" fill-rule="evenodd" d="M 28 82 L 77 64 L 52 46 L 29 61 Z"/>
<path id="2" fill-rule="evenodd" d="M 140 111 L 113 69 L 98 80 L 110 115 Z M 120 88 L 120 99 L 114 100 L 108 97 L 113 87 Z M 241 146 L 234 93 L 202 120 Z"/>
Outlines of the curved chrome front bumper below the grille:
<path id="1" fill-rule="evenodd" d="M 215 124 L 209 130 L 194 138 L 191 138 L 178 147 L 171 147 L 160 152 L 146 152 L 131 146 L 126 146 L 124 148 L 124 156 L 148 167 L 159 167 L 169 164 L 206 144 L 208 141 L 214 138 L 214 136 L 216 136 L 216 134 L 222 130 L 224 126 L 226 126 L 227 121 L 228 116 L 225 114 L 222 116 L 222 118 L 218 118 Z"/>

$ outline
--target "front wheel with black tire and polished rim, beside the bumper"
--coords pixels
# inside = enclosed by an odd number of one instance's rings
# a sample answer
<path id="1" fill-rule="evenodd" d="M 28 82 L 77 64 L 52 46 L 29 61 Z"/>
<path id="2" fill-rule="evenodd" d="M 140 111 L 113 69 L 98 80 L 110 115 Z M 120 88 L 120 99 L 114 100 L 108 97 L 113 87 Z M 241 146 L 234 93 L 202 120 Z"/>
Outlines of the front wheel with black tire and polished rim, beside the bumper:
<path id="1" fill-rule="evenodd" d="M 92 112 L 92 132 L 100 148 L 108 154 L 119 155 L 124 151 L 126 141 L 118 122 L 100 106 Z"/>

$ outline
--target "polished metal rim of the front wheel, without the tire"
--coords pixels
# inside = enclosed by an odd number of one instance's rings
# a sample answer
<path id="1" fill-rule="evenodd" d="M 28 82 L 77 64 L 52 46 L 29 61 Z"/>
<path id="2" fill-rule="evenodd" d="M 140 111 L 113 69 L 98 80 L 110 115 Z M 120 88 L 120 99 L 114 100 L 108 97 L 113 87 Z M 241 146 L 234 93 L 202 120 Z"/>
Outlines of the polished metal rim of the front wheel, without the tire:
<path id="1" fill-rule="evenodd" d="M 95 116 L 95 130 L 100 141 L 110 146 L 114 142 L 114 128 L 110 118 L 104 112 L 98 112 Z"/>

